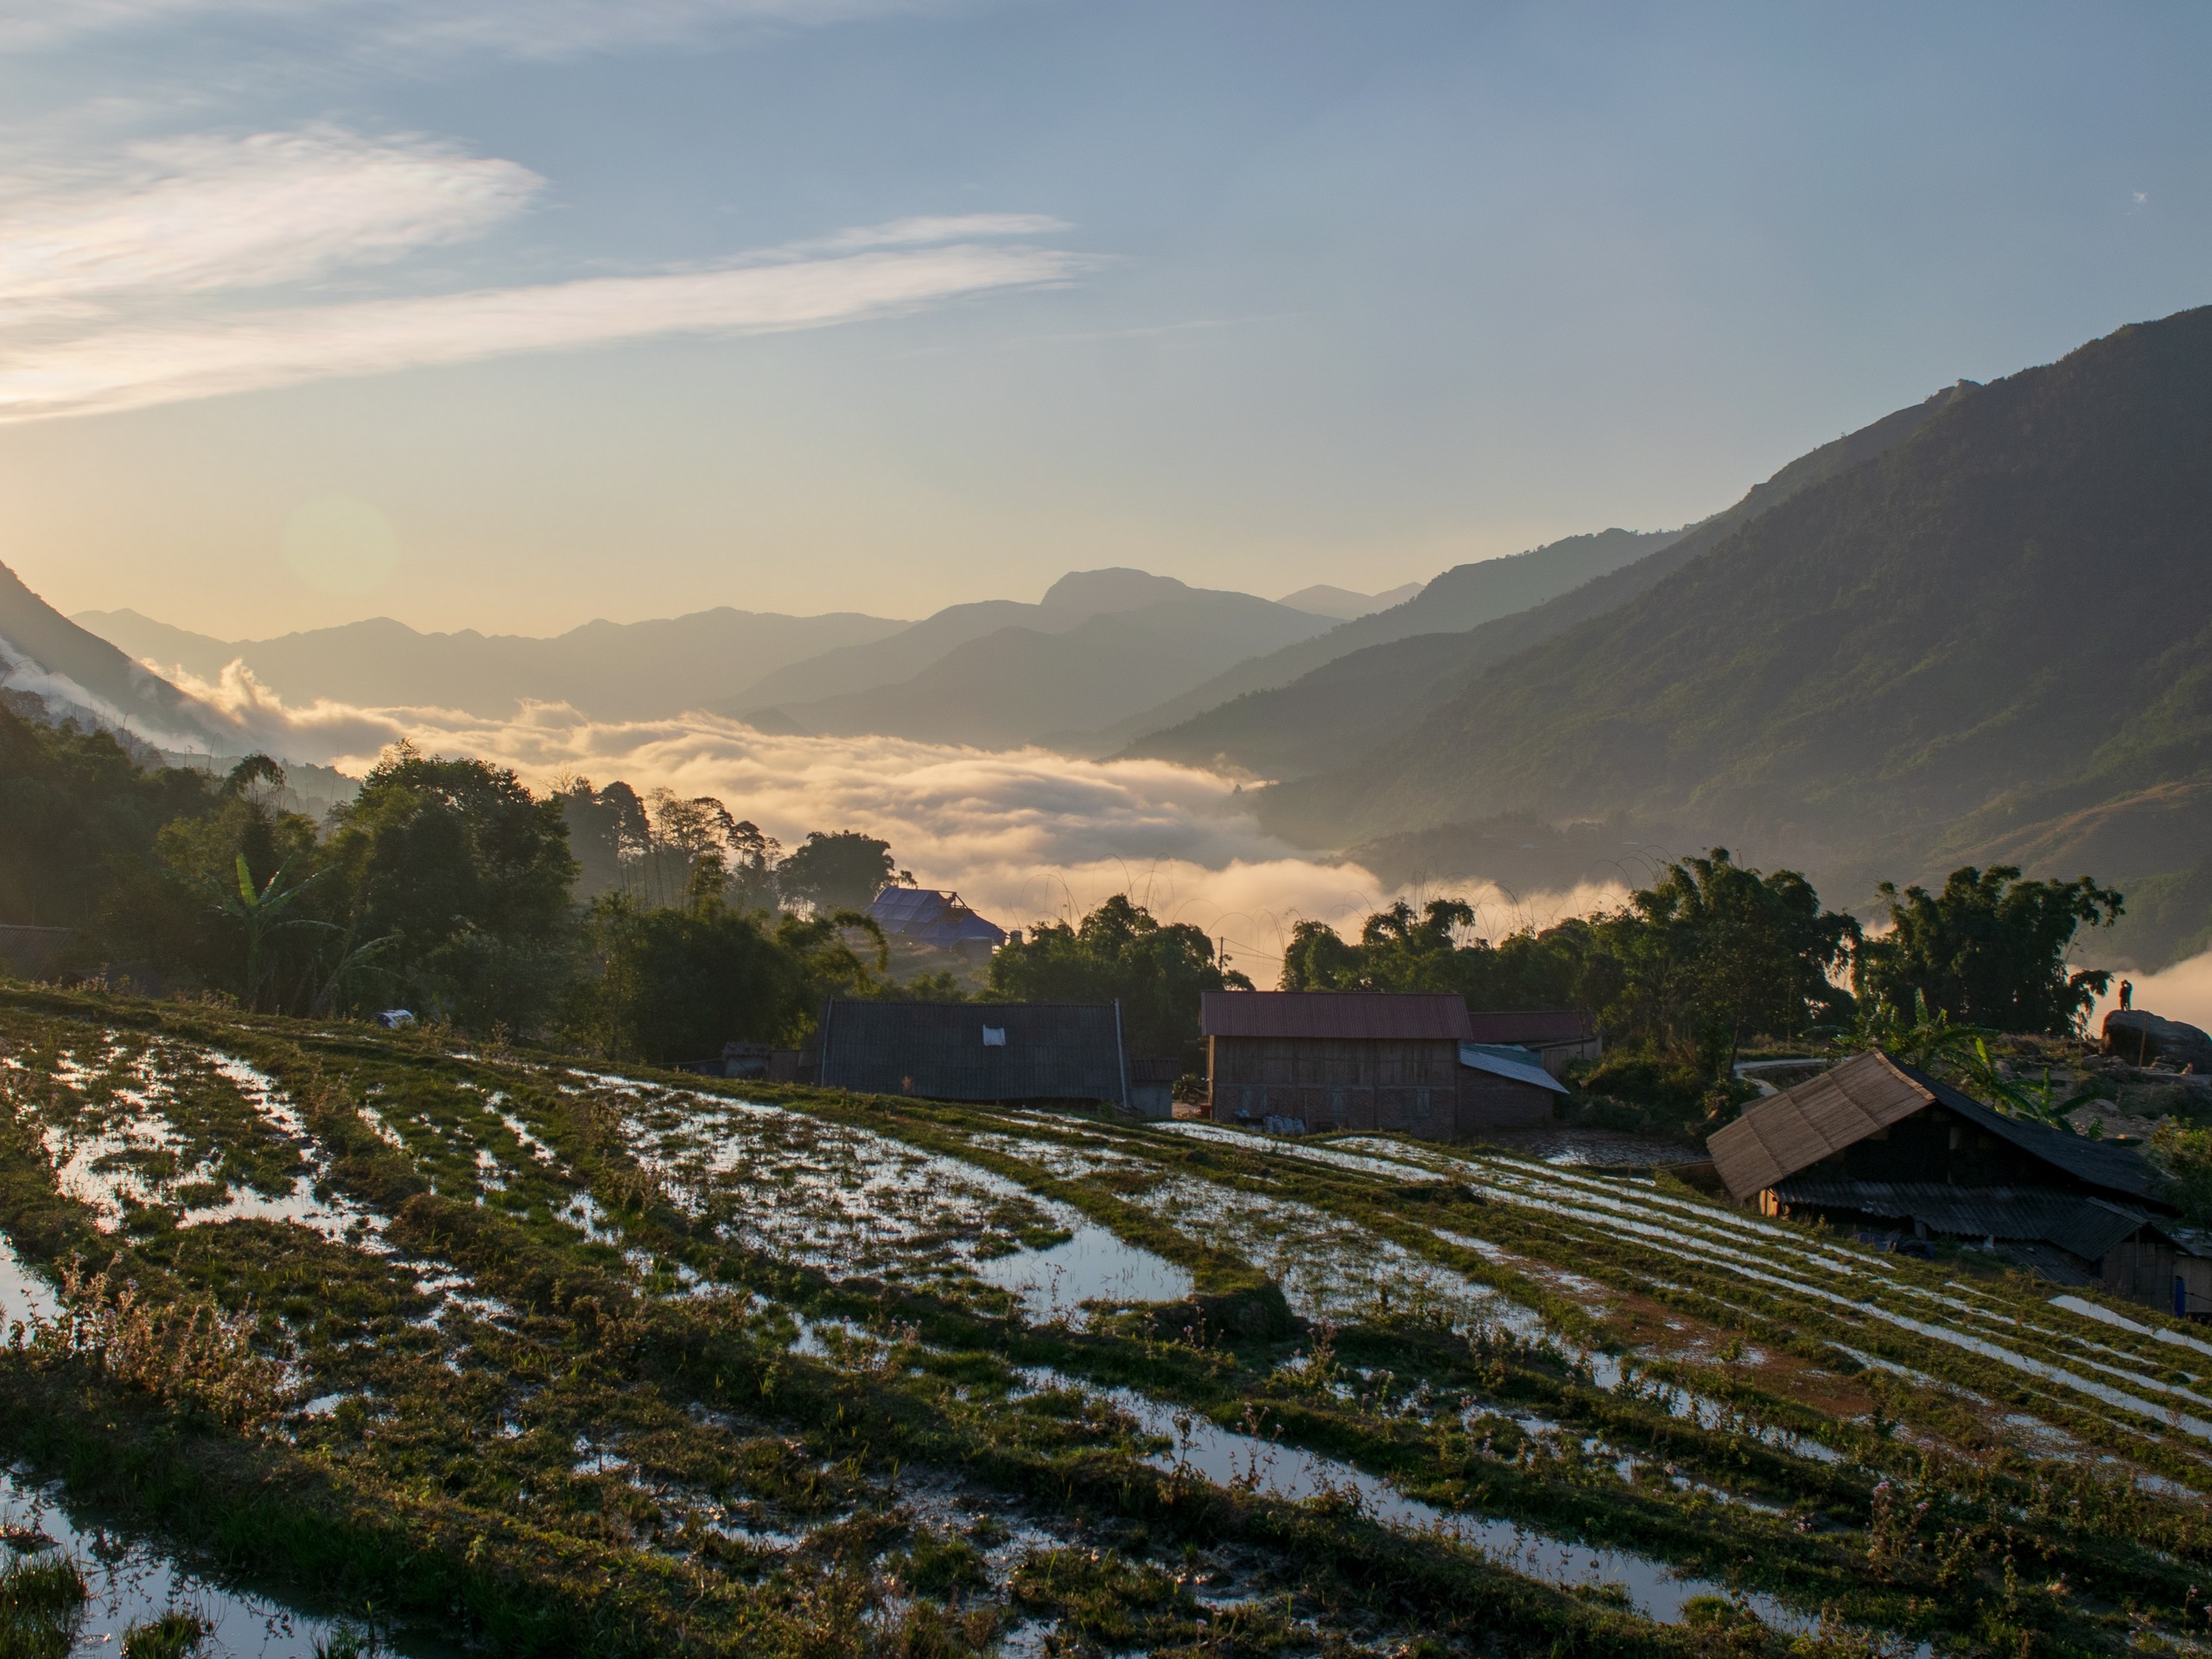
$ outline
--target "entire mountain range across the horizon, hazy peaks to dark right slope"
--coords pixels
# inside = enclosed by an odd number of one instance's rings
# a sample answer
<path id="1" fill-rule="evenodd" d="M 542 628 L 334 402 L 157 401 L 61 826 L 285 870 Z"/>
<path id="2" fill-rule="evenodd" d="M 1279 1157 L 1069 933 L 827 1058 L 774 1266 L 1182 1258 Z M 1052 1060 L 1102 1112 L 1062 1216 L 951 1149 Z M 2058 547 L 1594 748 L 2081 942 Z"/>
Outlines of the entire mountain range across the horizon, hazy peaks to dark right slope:
<path id="1" fill-rule="evenodd" d="M 1394 883 L 1566 887 L 1730 845 L 1865 905 L 1885 876 L 2006 860 L 2119 885 L 2112 949 L 2154 967 L 2212 945 L 2208 564 L 2197 310 L 1958 383 L 1686 529 L 1573 535 L 1411 595 L 1106 568 L 920 622 L 217 641 L 133 613 L 88 633 L 7 577 L 0 684 L 157 743 L 228 728 L 131 657 L 201 679 L 237 659 L 288 701 L 706 708 L 1168 759 L 1263 781 L 1265 827 Z"/>

